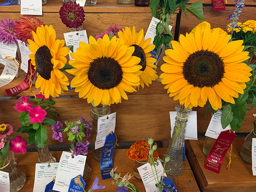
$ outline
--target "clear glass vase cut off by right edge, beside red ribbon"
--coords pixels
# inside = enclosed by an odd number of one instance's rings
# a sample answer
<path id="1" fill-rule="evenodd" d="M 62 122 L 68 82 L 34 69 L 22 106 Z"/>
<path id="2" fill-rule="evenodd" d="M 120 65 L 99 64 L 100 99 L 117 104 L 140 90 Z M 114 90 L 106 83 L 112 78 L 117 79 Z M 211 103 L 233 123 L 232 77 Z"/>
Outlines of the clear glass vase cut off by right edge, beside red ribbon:
<path id="1" fill-rule="evenodd" d="M 247 135 L 244 140 L 244 144 L 242 145 L 242 149 L 240 150 L 241 158 L 249 164 L 252 164 L 252 142 L 253 138 L 256 138 L 256 120 L 254 121 L 254 129 L 251 131 L 249 135 Z"/>

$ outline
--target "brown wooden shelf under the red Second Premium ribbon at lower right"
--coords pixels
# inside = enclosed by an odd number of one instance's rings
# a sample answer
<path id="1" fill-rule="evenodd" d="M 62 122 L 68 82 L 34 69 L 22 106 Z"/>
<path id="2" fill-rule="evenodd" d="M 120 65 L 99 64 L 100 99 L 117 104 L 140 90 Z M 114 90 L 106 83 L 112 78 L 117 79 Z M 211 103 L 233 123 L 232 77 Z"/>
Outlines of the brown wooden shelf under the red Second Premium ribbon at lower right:
<path id="1" fill-rule="evenodd" d="M 240 149 L 244 138 L 235 138 L 232 149 L 231 165 L 227 168 L 229 154 L 223 159 L 220 174 L 206 170 L 204 164 L 207 157 L 202 152 L 204 139 L 186 140 L 186 156 L 189 159 L 195 179 L 201 192 L 244 192 L 256 189 L 252 165 L 240 157 Z"/>

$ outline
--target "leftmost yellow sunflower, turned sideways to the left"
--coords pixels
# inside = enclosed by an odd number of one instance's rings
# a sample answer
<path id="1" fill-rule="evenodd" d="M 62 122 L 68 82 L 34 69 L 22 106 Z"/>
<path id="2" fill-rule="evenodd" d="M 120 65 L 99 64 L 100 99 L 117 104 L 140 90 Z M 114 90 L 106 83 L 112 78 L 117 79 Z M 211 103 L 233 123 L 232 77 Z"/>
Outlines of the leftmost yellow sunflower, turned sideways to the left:
<path id="1" fill-rule="evenodd" d="M 50 26 L 41 26 L 32 31 L 34 41 L 28 39 L 29 55 L 31 64 L 37 71 L 36 88 L 41 87 L 40 92 L 46 98 L 58 97 L 63 93 L 62 89 L 68 90 L 68 78 L 59 69 L 63 68 L 67 62 L 66 55 L 69 48 L 63 47 L 65 40 L 55 40 L 56 33 Z"/>

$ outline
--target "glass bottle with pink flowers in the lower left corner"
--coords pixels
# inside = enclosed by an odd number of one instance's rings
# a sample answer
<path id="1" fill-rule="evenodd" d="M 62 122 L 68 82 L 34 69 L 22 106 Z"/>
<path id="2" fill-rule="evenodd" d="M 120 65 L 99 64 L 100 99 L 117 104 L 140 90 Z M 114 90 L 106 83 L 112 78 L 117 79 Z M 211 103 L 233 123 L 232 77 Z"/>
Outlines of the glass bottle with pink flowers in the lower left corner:
<path id="1" fill-rule="evenodd" d="M 0 171 L 9 173 L 10 192 L 17 192 L 26 182 L 26 175 L 21 170 L 17 169 L 11 162 L 8 152 L 9 150 L 15 153 L 27 151 L 26 141 L 21 140 L 21 136 L 10 136 L 13 133 L 13 127 L 10 124 L 0 125 Z M 9 137 L 10 136 L 10 137 Z M 15 137 L 15 140 L 12 139 Z"/>

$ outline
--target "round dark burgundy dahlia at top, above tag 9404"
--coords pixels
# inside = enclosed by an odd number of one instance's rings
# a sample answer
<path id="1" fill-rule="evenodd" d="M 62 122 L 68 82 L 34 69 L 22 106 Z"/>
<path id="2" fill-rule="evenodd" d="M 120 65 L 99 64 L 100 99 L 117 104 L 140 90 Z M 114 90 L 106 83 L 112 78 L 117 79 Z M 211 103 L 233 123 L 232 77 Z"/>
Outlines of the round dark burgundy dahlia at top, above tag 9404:
<path id="1" fill-rule="evenodd" d="M 85 21 L 85 12 L 76 2 L 67 2 L 60 9 L 60 18 L 68 28 L 78 28 Z"/>

